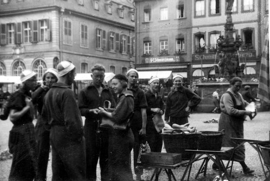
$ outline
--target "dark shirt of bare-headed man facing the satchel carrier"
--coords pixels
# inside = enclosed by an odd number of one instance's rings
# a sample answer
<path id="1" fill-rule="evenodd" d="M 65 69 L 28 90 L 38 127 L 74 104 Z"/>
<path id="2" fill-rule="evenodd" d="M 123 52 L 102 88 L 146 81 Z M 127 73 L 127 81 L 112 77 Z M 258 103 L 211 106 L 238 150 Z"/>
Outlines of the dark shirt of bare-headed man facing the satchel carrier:
<path id="1" fill-rule="evenodd" d="M 91 83 L 88 87 L 85 87 L 82 89 L 78 96 L 78 106 L 80 110 L 80 114 L 82 116 L 85 116 L 86 119 L 96 121 L 101 120 L 100 115 L 96 115 L 93 113 L 90 113 L 89 110 L 92 110 L 94 108 L 103 107 L 104 101 L 109 100 L 112 105 L 111 107 L 115 107 L 115 99 L 110 89 L 105 88 L 104 85 L 102 85 L 102 92 L 99 96 L 98 90 L 96 87 Z"/>

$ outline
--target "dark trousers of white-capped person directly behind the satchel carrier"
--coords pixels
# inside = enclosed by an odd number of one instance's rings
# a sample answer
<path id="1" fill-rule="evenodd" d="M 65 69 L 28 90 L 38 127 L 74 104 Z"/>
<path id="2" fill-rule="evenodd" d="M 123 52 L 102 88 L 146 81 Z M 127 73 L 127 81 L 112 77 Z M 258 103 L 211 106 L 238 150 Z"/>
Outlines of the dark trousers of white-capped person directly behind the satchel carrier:
<path id="1" fill-rule="evenodd" d="M 145 143 L 146 138 L 145 138 L 145 135 L 140 135 L 139 131 L 140 130 L 132 129 L 132 133 L 133 133 L 133 136 L 134 136 L 133 165 L 134 165 L 134 172 L 137 175 L 142 175 L 143 174 L 143 169 L 141 167 L 139 167 L 139 168 L 136 168 L 136 167 L 137 167 L 137 161 L 138 161 L 138 157 L 139 157 L 141 143 Z"/>

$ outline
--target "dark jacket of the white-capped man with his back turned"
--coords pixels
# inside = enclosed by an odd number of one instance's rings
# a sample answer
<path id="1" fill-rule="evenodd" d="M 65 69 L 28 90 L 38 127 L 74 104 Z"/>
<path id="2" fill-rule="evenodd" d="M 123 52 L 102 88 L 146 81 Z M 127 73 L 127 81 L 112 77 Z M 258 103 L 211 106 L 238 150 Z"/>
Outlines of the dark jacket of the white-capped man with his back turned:
<path id="1" fill-rule="evenodd" d="M 53 126 L 65 126 L 70 138 L 79 139 L 84 135 L 82 116 L 80 115 L 74 92 L 64 83 L 55 83 L 44 97 L 42 116 L 46 123 Z"/>

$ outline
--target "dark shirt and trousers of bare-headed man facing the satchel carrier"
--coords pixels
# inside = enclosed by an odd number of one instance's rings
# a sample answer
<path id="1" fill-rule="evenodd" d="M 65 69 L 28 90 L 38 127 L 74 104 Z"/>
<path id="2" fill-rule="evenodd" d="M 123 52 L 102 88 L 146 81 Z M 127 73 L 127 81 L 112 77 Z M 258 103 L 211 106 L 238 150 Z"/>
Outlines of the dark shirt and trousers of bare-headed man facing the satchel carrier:
<path id="1" fill-rule="evenodd" d="M 103 107 L 104 101 L 109 100 L 111 107 L 115 106 L 114 96 L 108 88 L 102 85 L 99 95 L 96 87 L 91 83 L 82 89 L 78 96 L 78 106 L 82 116 L 85 116 L 86 138 L 86 177 L 87 180 L 96 180 L 96 169 L 99 158 L 101 180 L 109 180 L 108 177 L 108 141 L 109 132 L 106 128 L 99 128 L 101 116 L 90 113 L 89 110 Z"/>

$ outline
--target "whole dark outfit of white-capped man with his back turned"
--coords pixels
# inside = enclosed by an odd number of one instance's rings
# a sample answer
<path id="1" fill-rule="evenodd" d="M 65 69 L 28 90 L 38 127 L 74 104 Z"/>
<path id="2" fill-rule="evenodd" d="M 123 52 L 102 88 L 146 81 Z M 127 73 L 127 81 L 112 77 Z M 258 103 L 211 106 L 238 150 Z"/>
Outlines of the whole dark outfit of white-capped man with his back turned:
<path id="1" fill-rule="evenodd" d="M 42 116 L 51 127 L 52 180 L 85 180 L 83 121 L 74 92 L 68 85 L 51 86 L 44 97 Z"/>

